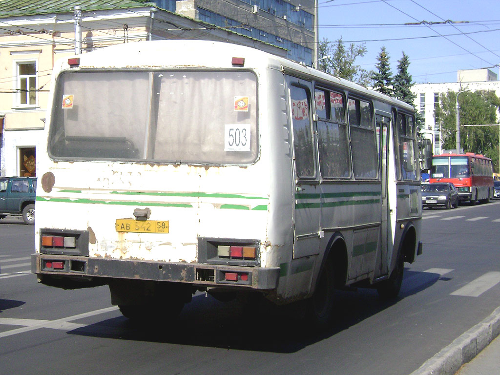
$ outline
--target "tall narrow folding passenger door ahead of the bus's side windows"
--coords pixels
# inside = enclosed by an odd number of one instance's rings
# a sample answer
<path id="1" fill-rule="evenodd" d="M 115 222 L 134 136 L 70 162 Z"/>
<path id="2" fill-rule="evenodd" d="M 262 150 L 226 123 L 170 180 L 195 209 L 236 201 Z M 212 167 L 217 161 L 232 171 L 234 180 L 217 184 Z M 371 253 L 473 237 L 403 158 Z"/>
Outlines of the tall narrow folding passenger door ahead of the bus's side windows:
<path id="1" fill-rule="evenodd" d="M 391 248 L 388 243 L 391 238 L 391 228 L 387 226 L 387 217 L 389 216 L 388 194 L 387 194 L 387 166 L 388 166 L 388 139 L 390 129 L 390 113 L 375 110 L 375 127 L 377 134 L 378 165 L 380 166 L 380 179 L 382 183 L 381 190 L 381 225 L 380 225 L 380 251 L 377 252 L 376 263 L 379 266 L 379 272 L 375 269 L 375 276 L 381 276 L 388 273 L 387 269 L 387 248 Z M 390 225 L 390 221 L 389 221 Z"/>

